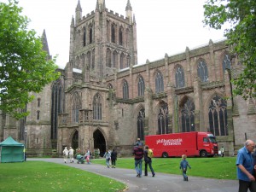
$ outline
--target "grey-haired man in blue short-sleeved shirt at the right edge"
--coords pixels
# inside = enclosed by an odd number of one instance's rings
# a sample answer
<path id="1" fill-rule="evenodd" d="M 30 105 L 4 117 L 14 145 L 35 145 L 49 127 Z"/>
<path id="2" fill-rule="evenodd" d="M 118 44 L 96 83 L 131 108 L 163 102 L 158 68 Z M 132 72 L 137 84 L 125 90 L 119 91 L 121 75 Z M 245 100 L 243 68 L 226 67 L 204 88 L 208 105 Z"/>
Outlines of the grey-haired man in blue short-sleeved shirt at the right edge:
<path id="1" fill-rule="evenodd" d="M 253 177 L 253 148 L 255 143 L 247 140 L 244 147 L 240 148 L 236 157 L 237 178 L 239 180 L 239 192 L 256 192 L 255 177 Z"/>

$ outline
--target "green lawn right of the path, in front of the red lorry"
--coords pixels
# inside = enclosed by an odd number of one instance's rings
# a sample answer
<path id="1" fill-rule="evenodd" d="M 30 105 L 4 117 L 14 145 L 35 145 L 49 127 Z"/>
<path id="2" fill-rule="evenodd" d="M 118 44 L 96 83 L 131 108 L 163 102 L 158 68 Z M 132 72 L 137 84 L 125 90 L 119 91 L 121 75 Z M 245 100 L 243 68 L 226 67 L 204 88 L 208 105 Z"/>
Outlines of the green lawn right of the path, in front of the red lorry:
<path id="1" fill-rule="evenodd" d="M 192 167 L 188 170 L 189 176 L 208 177 L 218 179 L 236 179 L 236 157 L 187 158 Z M 179 163 L 181 158 L 153 158 L 154 172 L 165 172 L 181 175 Z M 105 160 L 95 159 L 92 163 L 105 165 Z M 119 158 L 117 167 L 134 169 L 133 158 Z M 144 162 L 143 162 L 144 169 Z M 150 170 L 149 170 L 150 172 Z"/>

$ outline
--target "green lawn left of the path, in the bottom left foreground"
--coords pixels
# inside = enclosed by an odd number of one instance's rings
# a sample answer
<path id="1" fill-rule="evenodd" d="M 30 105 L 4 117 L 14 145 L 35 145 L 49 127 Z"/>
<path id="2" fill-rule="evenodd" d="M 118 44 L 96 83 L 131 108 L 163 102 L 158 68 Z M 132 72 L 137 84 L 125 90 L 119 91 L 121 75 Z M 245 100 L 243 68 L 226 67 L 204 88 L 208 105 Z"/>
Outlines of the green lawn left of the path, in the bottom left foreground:
<path id="1" fill-rule="evenodd" d="M 0 191 L 123 191 L 124 183 L 73 167 L 43 161 L 0 164 Z"/>

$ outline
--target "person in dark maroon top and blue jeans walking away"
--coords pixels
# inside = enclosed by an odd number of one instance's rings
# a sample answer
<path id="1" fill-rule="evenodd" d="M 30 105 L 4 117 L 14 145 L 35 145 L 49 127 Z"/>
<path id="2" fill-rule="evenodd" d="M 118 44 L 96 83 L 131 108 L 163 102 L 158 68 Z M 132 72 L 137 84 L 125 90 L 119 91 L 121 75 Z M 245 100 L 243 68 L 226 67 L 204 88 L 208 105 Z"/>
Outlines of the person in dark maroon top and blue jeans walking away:
<path id="1" fill-rule="evenodd" d="M 137 177 L 142 177 L 143 172 L 143 143 L 137 143 L 133 148 L 134 160 L 135 160 L 135 170 L 137 172 Z"/>

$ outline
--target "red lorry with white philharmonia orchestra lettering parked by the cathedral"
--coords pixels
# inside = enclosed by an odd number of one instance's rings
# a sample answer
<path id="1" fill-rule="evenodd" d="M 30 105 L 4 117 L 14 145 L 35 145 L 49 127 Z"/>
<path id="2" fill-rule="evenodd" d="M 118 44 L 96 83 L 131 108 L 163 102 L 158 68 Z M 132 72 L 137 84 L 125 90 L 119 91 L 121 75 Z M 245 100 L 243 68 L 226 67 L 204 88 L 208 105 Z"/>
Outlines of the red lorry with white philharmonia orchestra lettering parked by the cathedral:
<path id="1" fill-rule="evenodd" d="M 218 144 L 211 132 L 180 132 L 145 137 L 145 144 L 154 151 L 154 157 L 213 156 Z"/>

